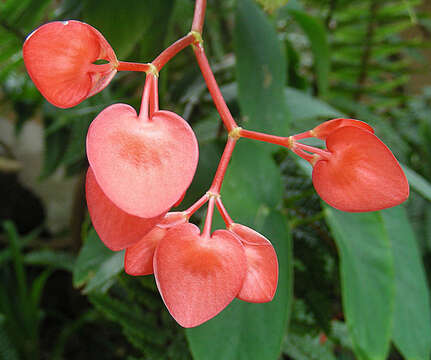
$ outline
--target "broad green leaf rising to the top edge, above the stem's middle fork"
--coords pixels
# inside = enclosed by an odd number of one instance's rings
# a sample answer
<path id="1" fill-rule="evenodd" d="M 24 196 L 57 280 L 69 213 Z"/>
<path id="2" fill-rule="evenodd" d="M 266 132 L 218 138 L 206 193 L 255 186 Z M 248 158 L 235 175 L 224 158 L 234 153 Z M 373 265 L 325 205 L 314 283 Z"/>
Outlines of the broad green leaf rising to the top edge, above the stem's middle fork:
<path id="1" fill-rule="evenodd" d="M 286 134 L 284 51 L 274 27 L 251 0 L 238 1 L 234 42 L 241 124 L 250 130 Z"/>

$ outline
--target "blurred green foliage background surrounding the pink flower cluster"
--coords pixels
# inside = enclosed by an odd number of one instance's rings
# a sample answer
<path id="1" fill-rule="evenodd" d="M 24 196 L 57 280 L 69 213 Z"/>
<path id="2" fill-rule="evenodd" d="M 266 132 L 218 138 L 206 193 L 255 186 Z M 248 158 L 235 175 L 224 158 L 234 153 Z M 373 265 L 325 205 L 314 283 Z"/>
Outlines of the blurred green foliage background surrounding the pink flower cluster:
<path id="1" fill-rule="evenodd" d="M 42 23 L 78 19 L 100 30 L 121 60 L 149 62 L 189 31 L 193 7 L 191 0 L 0 1 L 0 358 L 429 360 L 425 0 L 208 0 L 204 31 L 242 126 L 289 135 L 341 116 L 369 122 L 406 170 L 405 204 L 336 211 L 317 197 L 306 164 L 241 140 L 222 195 L 234 219 L 274 243 L 277 296 L 265 305 L 235 301 L 187 331 L 168 314 L 153 277 L 124 274 L 123 253 L 100 242 L 84 201 L 86 131 L 112 103 L 137 108 L 144 76 L 120 73 L 102 93 L 57 109 L 26 74 L 22 43 Z M 190 50 L 161 72 L 160 101 L 199 139 L 187 207 L 209 186 L 226 138 Z"/>

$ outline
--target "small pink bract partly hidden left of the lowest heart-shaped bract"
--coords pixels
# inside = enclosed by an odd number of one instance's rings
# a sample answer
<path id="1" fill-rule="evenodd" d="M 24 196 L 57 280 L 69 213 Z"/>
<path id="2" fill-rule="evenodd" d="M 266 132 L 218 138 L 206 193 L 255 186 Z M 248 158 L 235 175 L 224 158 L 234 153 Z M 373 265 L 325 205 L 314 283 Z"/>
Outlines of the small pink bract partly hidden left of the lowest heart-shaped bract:
<path id="1" fill-rule="evenodd" d="M 150 275 L 153 271 L 154 252 L 168 230 L 184 224 L 187 218 L 182 212 L 167 213 L 157 226 L 133 246 L 126 249 L 124 271 L 133 276 Z"/>

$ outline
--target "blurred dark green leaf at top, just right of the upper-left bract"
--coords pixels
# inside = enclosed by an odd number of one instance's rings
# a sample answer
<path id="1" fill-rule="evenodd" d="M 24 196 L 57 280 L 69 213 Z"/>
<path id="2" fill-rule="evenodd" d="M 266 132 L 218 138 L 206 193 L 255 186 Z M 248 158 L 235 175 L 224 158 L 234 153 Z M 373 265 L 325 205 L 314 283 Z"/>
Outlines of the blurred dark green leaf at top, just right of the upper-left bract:
<path id="1" fill-rule="evenodd" d="M 105 36 L 123 60 L 139 41 L 148 46 L 145 42 L 153 44 L 157 38 L 159 43 L 153 45 L 162 46 L 160 34 L 165 34 L 173 4 L 173 0 L 89 0 L 84 2 L 83 18 Z"/>

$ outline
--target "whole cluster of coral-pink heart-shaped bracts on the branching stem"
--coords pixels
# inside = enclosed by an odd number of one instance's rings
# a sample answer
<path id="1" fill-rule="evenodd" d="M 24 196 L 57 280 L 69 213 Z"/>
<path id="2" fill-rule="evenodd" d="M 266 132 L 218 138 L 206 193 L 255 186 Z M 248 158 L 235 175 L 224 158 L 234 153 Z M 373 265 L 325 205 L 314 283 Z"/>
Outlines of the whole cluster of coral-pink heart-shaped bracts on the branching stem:
<path id="1" fill-rule="evenodd" d="M 79 21 L 41 26 L 25 41 L 23 54 L 37 88 L 61 108 L 101 91 L 121 70 L 104 37 Z M 97 64 L 101 59 L 105 63 Z M 152 71 L 148 67 L 139 115 L 129 105 L 114 104 L 89 128 L 87 205 L 105 245 L 114 251 L 126 249 L 125 271 L 154 273 L 171 315 L 180 325 L 193 327 L 217 315 L 235 297 L 271 301 L 277 288 L 277 256 L 264 236 L 230 219 L 219 189 L 209 191 L 189 210 L 169 212 L 193 179 L 199 150 L 188 123 L 159 110 L 157 74 Z M 262 140 L 253 132 L 237 130 L 238 138 Z M 298 142 L 308 137 L 323 140 L 326 148 Z M 335 119 L 269 142 L 310 162 L 317 192 L 340 210 L 374 211 L 408 197 L 408 183 L 397 160 L 361 121 Z M 201 233 L 189 223 L 208 201 L 209 211 L 214 202 L 221 209 L 225 230 L 210 234 L 206 226 L 208 231 Z M 212 213 L 209 222 L 211 217 Z"/>

